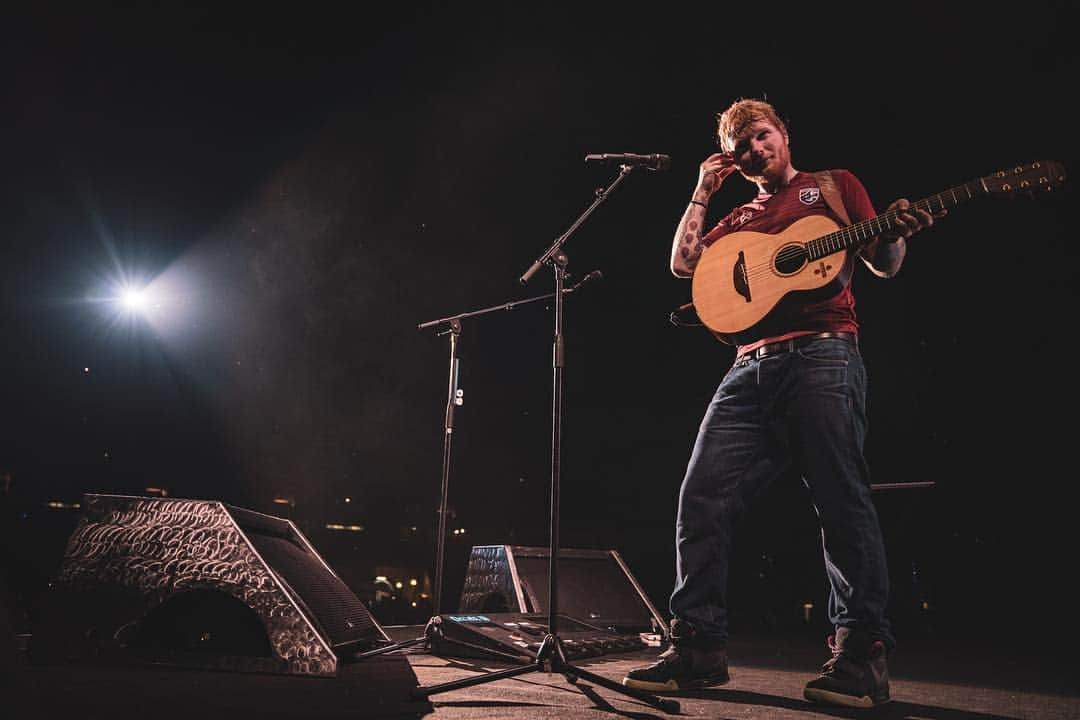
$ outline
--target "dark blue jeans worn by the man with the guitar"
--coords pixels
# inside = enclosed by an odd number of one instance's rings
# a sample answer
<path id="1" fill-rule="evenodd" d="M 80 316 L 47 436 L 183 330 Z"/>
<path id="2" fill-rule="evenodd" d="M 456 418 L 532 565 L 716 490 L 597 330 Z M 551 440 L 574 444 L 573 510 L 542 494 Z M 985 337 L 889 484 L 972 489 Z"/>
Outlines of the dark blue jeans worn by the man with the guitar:
<path id="1" fill-rule="evenodd" d="M 821 524 L 829 620 L 893 648 L 865 437 L 866 370 L 854 343 L 818 339 L 728 370 L 679 490 L 670 609 L 693 626 L 697 640 L 727 642 L 732 533 L 748 503 L 794 470 Z"/>

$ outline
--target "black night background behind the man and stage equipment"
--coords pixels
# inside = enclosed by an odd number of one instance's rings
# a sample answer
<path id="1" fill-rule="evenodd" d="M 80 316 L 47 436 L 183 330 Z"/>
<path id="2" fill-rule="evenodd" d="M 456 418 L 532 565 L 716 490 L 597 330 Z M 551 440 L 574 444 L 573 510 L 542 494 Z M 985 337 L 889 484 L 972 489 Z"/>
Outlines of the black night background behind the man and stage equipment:
<path id="1" fill-rule="evenodd" d="M 546 269 L 517 279 L 615 179 L 593 152 L 673 161 L 566 244 L 575 277 L 604 280 L 567 303 L 561 544 L 619 549 L 663 608 L 678 484 L 733 355 L 669 322 L 715 112 L 766 97 L 796 167 L 851 169 L 879 209 L 1076 157 L 1064 2 L 345 8 L 45 5 L 5 24 L 16 627 L 77 516 L 45 503 L 84 492 L 291 517 L 365 598 L 377 571 L 430 575 L 449 344 L 417 325 L 550 293 Z M 1077 639 L 1072 187 L 958 207 L 900 276 L 854 281 L 874 481 L 933 484 L 875 494 L 902 643 Z M 737 176 L 714 212 L 752 194 Z M 159 279 L 167 307 L 118 317 L 102 298 L 120 277 Z M 449 504 L 467 532 L 444 610 L 472 545 L 549 542 L 552 330 L 543 302 L 463 323 Z M 820 629 L 806 500 L 792 478 L 747 515 L 734 631 Z"/>

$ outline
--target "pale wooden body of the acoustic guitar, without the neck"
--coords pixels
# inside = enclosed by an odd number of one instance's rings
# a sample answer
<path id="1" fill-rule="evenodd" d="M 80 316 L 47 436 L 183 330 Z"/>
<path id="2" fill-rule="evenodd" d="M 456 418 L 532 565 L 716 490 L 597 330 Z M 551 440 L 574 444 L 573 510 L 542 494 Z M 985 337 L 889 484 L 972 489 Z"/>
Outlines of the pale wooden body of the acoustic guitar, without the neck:
<path id="1" fill-rule="evenodd" d="M 808 299 L 838 291 L 851 268 L 847 248 L 810 260 L 806 245 L 839 226 L 810 215 L 778 233 L 748 230 L 724 235 L 705 248 L 692 277 L 693 307 L 711 330 L 738 341 L 788 295 Z M 813 290 L 820 290 L 814 293 Z"/>

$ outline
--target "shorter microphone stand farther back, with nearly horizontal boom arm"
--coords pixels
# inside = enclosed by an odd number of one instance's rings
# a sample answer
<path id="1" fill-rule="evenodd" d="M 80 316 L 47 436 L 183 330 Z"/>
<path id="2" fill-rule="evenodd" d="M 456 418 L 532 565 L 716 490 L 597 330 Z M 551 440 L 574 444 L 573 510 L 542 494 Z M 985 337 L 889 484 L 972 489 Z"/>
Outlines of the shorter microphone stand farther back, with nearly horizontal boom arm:
<path id="1" fill-rule="evenodd" d="M 599 270 L 593 270 L 591 273 L 582 277 L 576 285 L 562 290 L 562 295 L 570 295 L 577 291 L 586 283 L 591 283 L 595 280 L 602 279 L 604 275 Z M 441 330 L 436 335 L 438 336 L 449 336 L 450 339 L 450 370 L 449 370 L 449 381 L 447 383 L 446 391 L 446 422 L 443 425 L 443 475 L 441 484 L 441 493 L 438 500 L 438 530 L 436 532 L 435 539 L 435 587 L 434 597 L 432 598 L 432 615 L 423 628 L 423 634 L 408 639 L 402 640 L 400 642 L 394 642 L 386 644 L 374 650 L 367 650 L 365 652 L 356 653 L 353 655 L 353 660 L 364 660 L 366 657 L 373 657 L 375 655 L 382 655 L 388 652 L 393 652 L 395 650 L 404 650 L 406 648 L 411 648 L 418 644 L 424 644 L 426 649 L 431 648 L 431 642 L 433 639 L 438 639 L 445 641 L 445 635 L 442 631 L 442 615 L 440 608 L 442 604 L 443 597 L 443 568 L 445 565 L 446 557 L 446 512 L 447 512 L 447 498 L 449 495 L 450 487 L 450 445 L 454 437 L 454 410 L 464 404 L 464 392 L 458 388 L 458 377 L 461 371 L 461 362 L 459 357 L 459 344 L 461 339 L 461 321 L 465 317 L 473 317 L 475 315 L 483 315 L 489 312 L 495 312 L 496 310 L 513 310 L 518 305 L 524 305 L 530 302 L 537 302 L 539 300 L 546 300 L 554 297 L 554 293 L 549 293 L 548 295 L 541 295 L 535 298 L 527 298 L 524 300 L 514 300 L 511 302 L 504 302 L 498 305 L 490 305 L 488 308 L 482 308 L 480 310 L 472 310 L 469 312 L 463 312 L 457 315 L 450 315 L 449 317 L 440 317 L 438 320 L 428 321 L 426 323 L 420 323 L 417 327 L 419 329 L 427 329 L 429 327 L 442 327 L 445 326 L 446 329 Z"/>

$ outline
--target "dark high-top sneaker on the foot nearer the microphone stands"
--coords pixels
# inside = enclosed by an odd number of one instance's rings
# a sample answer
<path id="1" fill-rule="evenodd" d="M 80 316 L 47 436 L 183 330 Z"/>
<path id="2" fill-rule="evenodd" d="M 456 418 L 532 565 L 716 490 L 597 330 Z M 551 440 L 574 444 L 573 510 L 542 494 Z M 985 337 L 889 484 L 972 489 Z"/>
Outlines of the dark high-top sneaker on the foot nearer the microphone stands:
<path id="1" fill-rule="evenodd" d="M 696 688 L 721 685 L 730 679 L 728 653 L 721 648 L 691 647 L 690 633 L 679 621 L 672 623 L 672 644 L 660 660 L 648 667 L 626 673 L 622 684 L 648 692 L 678 692 Z"/>

